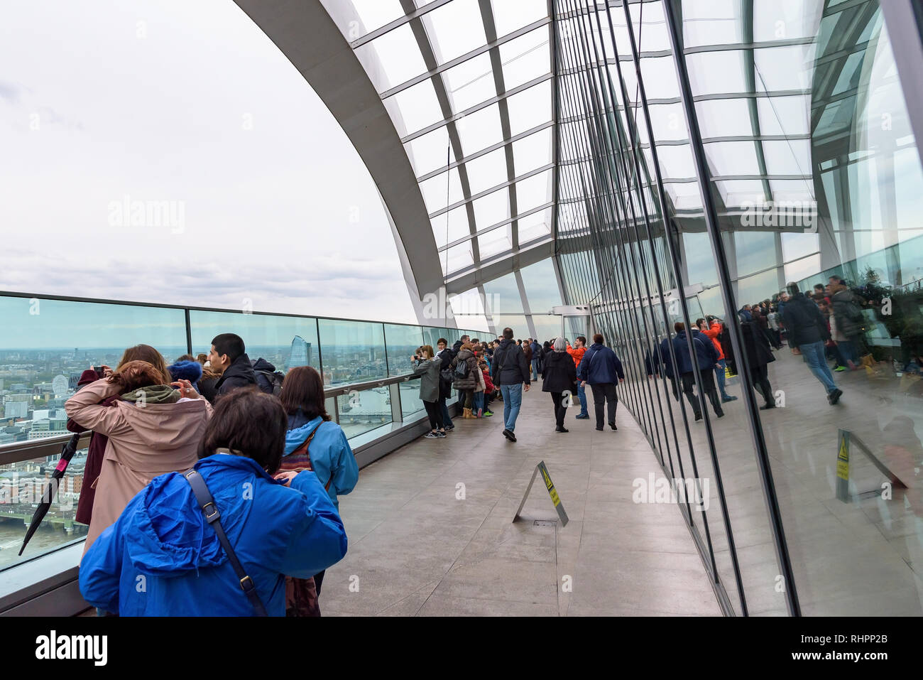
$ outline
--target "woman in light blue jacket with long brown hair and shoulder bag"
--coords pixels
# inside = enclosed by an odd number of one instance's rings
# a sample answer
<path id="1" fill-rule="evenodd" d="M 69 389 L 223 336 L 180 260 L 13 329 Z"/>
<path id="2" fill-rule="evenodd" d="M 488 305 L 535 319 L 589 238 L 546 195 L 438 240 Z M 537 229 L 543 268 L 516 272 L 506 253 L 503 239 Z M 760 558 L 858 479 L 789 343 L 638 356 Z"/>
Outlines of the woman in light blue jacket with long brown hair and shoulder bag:
<path id="1" fill-rule="evenodd" d="M 330 419 L 324 401 L 324 382 L 310 366 L 289 370 L 279 395 L 288 415 L 282 470 L 313 469 L 340 512 L 338 496 L 352 492 L 359 480 L 359 466 L 346 433 Z M 320 595 L 324 571 L 314 575 Z"/>

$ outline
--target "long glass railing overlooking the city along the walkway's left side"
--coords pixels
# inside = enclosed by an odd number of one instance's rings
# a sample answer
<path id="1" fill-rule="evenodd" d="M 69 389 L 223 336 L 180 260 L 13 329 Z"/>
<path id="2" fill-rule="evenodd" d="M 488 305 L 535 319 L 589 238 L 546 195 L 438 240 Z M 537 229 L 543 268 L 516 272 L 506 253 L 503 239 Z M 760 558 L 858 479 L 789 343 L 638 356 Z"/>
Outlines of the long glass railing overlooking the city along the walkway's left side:
<path id="1" fill-rule="evenodd" d="M 327 409 L 354 440 L 426 414 L 419 383 L 407 380 L 421 345 L 451 345 L 485 332 L 406 323 L 326 319 L 64 297 L 0 294 L 0 570 L 60 548 L 86 533 L 76 512 L 86 442 L 71 460 L 41 528 L 18 555 L 66 431 L 66 400 L 83 370 L 115 367 L 126 347 L 157 348 L 168 363 L 208 354 L 211 339 L 240 335 L 249 358 L 283 373 L 313 366 L 324 376 Z"/>

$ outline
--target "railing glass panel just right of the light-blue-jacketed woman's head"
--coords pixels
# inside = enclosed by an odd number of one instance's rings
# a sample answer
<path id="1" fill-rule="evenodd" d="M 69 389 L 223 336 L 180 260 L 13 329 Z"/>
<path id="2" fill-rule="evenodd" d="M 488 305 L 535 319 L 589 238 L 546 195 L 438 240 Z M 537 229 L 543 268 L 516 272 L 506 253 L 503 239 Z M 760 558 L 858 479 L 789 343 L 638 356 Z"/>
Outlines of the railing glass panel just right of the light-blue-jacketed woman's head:
<path id="1" fill-rule="evenodd" d="M 380 323 L 320 319 L 318 324 L 320 351 L 324 358 L 325 385 L 333 387 L 388 377 L 384 329 Z M 387 396 L 387 388 L 384 390 L 384 395 Z M 346 396 L 348 401 L 348 395 Z M 340 397 L 341 414 L 342 398 Z M 378 397 L 370 396 L 369 403 L 371 402 L 378 404 Z M 388 418 L 390 421 L 390 407 Z"/>

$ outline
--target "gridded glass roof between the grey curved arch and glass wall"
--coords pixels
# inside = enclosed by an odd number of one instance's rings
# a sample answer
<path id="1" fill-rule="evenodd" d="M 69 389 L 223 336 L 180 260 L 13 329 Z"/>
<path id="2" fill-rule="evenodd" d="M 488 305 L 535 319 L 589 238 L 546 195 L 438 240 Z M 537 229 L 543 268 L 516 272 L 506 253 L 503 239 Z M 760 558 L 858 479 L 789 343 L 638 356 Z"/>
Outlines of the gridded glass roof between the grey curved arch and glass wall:
<path id="1" fill-rule="evenodd" d="M 550 239 L 547 0 L 333 2 L 402 138 L 446 277 Z"/>

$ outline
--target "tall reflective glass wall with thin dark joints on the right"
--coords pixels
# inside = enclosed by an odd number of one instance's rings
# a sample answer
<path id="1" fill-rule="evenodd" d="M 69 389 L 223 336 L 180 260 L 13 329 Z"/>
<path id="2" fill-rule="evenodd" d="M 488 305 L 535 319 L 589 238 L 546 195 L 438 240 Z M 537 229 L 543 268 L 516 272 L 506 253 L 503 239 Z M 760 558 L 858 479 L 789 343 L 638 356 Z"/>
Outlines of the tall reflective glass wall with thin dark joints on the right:
<path id="1" fill-rule="evenodd" d="M 923 65 L 899 68 L 893 15 L 554 8 L 565 301 L 591 303 L 665 476 L 697 489 L 680 508 L 725 609 L 923 613 L 923 168 L 904 97 Z M 687 398 L 672 367 L 700 342 L 724 358 L 692 360 Z"/>

